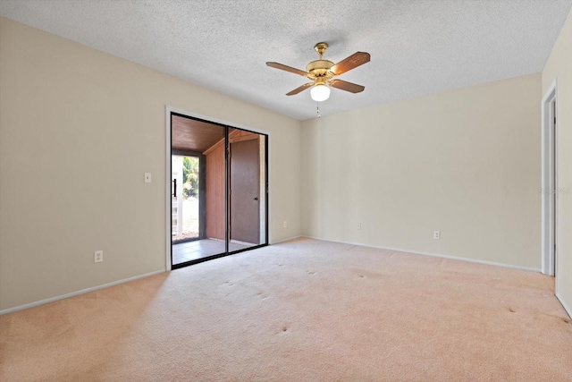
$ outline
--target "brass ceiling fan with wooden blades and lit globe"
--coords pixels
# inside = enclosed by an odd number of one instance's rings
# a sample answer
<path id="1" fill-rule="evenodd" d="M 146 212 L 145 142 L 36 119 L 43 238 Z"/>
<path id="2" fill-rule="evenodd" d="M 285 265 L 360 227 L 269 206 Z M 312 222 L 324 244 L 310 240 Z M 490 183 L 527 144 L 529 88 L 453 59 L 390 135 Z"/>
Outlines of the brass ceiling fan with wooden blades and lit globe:
<path id="1" fill-rule="evenodd" d="M 357 68 L 357 66 L 366 64 L 369 62 L 370 55 L 366 52 L 356 52 L 353 55 L 341 60 L 338 64 L 333 64 L 332 61 L 324 60 L 322 56 L 324 55 L 328 44 L 325 42 L 319 42 L 315 44 L 315 51 L 320 55 L 319 60 L 312 61 L 310 64 L 306 65 L 306 72 L 301 71 L 291 66 L 278 64 L 278 63 L 266 63 L 266 65 L 281 69 L 282 71 L 291 72 L 299 74 L 301 76 L 307 77 L 312 82 L 307 82 L 299 88 L 293 89 L 290 93 L 286 93 L 287 96 L 293 96 L 298 94 L 302 90 L 312 87 L 310 90 L 310 95 L 315 101 L 321 102 L 325 101 L 330 97 L 330 87 L 346 90 L 350 93 L 359 93 L 366 89 L 361 85 L 351 83 L 348 81 L 337 80 L 334 77 L 339 76 L 345 72 Z"/>

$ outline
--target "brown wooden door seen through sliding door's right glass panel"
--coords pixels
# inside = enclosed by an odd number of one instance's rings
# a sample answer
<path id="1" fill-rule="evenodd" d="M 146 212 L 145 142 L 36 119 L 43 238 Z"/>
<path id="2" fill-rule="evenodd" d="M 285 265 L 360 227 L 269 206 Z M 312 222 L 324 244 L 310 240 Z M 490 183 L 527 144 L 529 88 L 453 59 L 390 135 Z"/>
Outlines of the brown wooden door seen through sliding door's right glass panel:
<path id="1" fill-rule="evenodd" d="M 231 143 L 231 240 L 260 243 L 258 139 Z"/>

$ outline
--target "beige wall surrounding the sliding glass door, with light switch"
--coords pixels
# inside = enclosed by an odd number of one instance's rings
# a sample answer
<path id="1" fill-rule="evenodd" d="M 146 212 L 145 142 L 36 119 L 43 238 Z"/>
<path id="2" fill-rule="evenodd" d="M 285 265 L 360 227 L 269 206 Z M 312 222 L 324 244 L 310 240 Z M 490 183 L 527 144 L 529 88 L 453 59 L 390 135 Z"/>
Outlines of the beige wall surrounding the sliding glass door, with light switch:
<path id="1" fill-rule="evenodd" d="M 0 310 L 164 269 L 165 105 L 270 132 L 270 240 L 300 234 L 298 121 L 0 18 Z"/>

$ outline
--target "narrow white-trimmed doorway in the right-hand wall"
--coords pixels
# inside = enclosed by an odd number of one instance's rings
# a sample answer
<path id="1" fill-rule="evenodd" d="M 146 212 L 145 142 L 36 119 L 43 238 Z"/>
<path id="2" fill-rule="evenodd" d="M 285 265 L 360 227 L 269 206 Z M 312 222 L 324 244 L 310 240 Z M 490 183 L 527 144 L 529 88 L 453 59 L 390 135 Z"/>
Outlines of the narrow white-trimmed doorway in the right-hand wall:
<path id="1" fill-rule="evenodd" d="M 543 274 L 556 276 L 558 242 L 557 84 L 543 97 Z M 558 284 L 557 284 L 558 285 Z M 558 291 L 556 291 L 558 293 Z"/>

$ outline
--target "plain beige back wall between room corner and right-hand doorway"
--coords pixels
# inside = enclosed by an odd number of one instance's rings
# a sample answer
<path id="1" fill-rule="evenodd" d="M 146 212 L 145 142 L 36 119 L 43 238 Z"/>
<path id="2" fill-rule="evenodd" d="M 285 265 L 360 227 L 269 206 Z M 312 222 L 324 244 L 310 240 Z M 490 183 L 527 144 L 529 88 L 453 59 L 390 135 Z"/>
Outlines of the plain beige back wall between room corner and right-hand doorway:
<path id="1" fill-rule="evenodd" d="M 534 74 L 305 121 L 304 233 L 540 269 L 540 92 Z"/>

